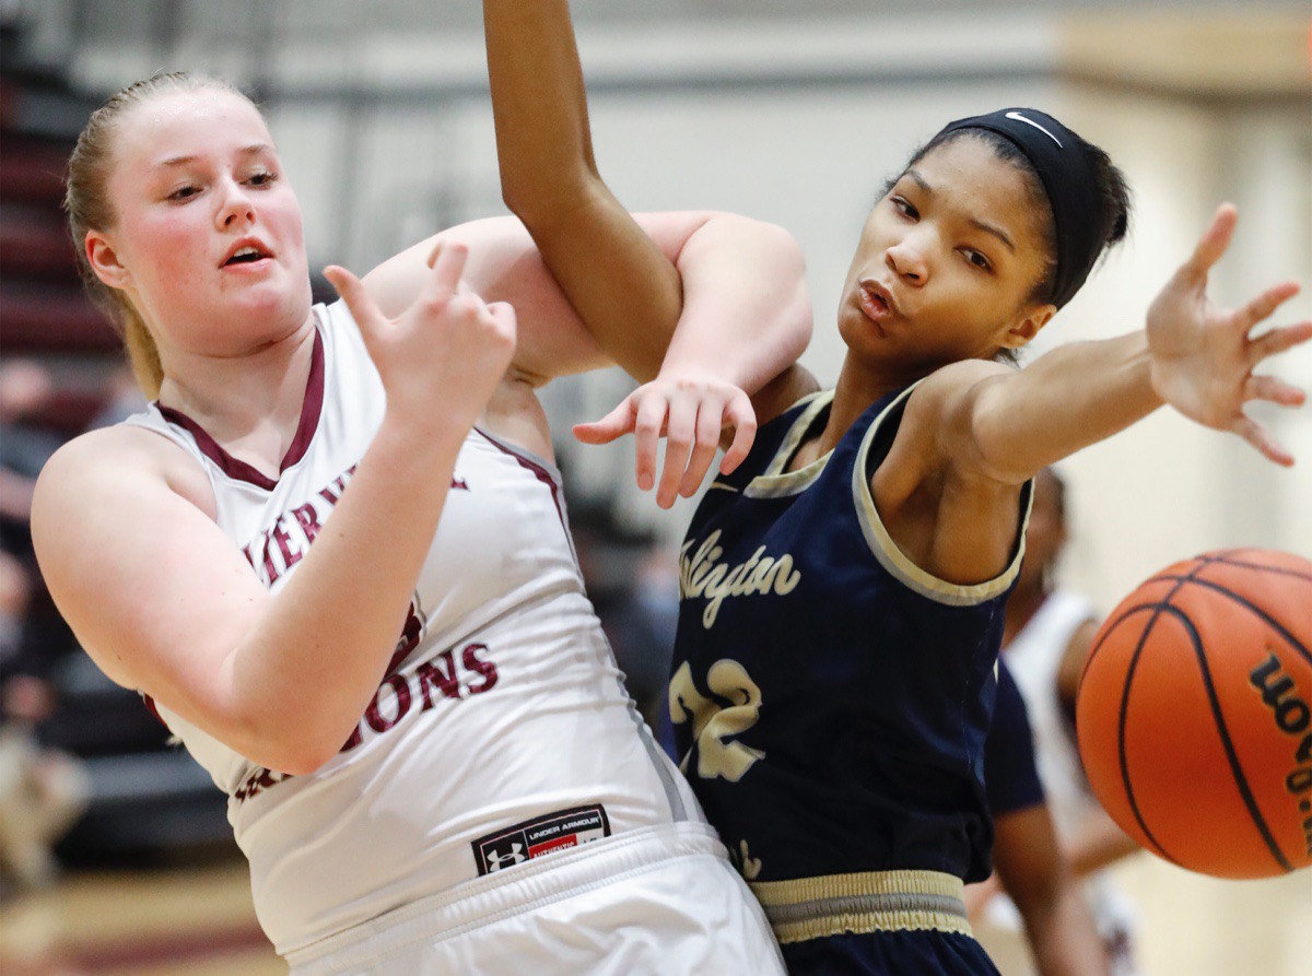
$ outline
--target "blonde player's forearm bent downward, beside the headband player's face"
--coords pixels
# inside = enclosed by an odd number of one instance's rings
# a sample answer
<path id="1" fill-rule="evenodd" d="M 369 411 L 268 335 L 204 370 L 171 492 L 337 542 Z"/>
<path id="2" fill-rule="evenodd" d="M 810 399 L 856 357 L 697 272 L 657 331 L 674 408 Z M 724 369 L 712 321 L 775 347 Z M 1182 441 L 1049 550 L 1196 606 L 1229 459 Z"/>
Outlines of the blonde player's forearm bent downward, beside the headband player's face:
<path id="1" fill-rule="evenodd" d="M 708 374 L 754 394 L 806 350 L 812 325 L 806 265 L 786 231 L 715 214 L 676 264 L 684 314 L 663 374 Z"/>

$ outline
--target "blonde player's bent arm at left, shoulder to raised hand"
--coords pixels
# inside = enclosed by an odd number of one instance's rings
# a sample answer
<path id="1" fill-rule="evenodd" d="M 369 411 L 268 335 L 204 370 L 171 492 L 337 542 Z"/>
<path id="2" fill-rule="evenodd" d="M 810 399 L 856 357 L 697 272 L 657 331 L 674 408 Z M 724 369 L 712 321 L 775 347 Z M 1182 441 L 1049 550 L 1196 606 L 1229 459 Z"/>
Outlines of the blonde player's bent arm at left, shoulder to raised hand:
<path id="1" fill-rule="evenodd" d="M 395 321 L 331 272 L 387 408 L 331 531 L 276 594 L 214 523 L 203 472 L 164 438 L 110 428 L 55 454 L 33 540 L 55 603 L 110 678 L 270 769 L 308 773 L 337 754 L 396 648 L 461 443 L 514 345 L 509 308 L 455 294 L 462 264 L 445 249 Z"/>

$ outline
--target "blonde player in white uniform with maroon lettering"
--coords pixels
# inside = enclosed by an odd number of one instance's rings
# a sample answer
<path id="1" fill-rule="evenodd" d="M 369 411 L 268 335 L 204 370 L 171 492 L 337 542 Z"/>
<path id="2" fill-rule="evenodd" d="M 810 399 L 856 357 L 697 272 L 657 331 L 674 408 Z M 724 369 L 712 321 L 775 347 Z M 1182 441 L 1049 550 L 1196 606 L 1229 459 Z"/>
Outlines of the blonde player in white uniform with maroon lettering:
<path id="1" fill-rule="evenodd" d="M 673 496 L 722 422 L 745 447 L 740 387 L 806 342 L 791 240 L 672 214 L 644 219 L 653 244 L 607 197 L 572 234 L 615 272 L 575 293 L 581 316 L 510 218 L 363 281 L 331 268 L 344 302 L 311 306 L 258 110 L 185 75 L 92 117 L 67 207 L 157 399 L 49 463 L 42 569 L 228 794 L 293 972 L 779 972 L 623 691 L 534 387 L 610 361 L 651 379 L 618 426 L 649 480 L 668 426 Z M 770 283 L 727 294 L 739 264 Z"/>

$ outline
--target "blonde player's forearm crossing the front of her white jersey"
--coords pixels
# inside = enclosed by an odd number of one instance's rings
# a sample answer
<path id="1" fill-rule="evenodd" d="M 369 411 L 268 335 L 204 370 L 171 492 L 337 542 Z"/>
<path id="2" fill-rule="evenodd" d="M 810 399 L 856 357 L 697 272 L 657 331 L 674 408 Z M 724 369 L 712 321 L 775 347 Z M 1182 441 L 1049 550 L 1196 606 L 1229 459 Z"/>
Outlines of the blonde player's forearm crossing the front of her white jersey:
<path id="1" fill-rule="evenodd" d="M 384 420 L 282 590 L 228 656 L 228 737 L 248 758 L 308 773 L 359 720 L 396 648 L 464 430 Z M 236 737 L 239 741 L 232 741 Z"/>

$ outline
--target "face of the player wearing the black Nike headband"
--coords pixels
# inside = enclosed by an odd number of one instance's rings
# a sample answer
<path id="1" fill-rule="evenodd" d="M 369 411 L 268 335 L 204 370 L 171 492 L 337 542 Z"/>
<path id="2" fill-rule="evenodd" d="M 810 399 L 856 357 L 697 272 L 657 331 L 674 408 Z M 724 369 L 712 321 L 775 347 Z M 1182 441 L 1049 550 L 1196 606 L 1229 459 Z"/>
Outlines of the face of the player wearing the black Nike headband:
<path id="1" fill-rule="evenodd" d="M 903 173 L 848 270 L 838 331 L 853 353 L 924 375 L 1029 341 L 1052 311 L 1029 300 L 1047 265 L 1029 178 L 974 138 Z"/>

